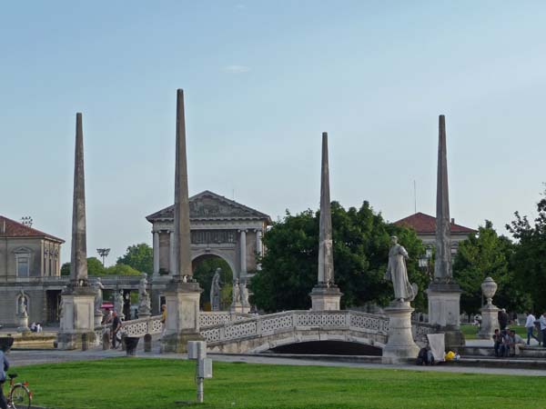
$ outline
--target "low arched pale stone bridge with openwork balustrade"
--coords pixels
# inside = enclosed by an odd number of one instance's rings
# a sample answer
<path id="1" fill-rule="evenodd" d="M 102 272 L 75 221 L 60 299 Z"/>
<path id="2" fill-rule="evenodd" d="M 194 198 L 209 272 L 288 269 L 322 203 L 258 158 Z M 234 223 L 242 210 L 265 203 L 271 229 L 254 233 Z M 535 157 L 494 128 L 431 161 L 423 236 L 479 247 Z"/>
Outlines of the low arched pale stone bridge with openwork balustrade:
<path id="1" fill-rule="evenodd" d="M 161 332 L 160 316 L 126 321 L 128 336 Z M 286 311 L 277 314 L 243 315 L 201 313 L 200 334 L 209 352 L 260 353 L 282 345 L 318 341 L 364 344 L 383 349 L 387 344 L 389 318 L 358 311 Z M 422 343 L 434 333 L 429 324 L 412 323 L 413 337 Z"/>

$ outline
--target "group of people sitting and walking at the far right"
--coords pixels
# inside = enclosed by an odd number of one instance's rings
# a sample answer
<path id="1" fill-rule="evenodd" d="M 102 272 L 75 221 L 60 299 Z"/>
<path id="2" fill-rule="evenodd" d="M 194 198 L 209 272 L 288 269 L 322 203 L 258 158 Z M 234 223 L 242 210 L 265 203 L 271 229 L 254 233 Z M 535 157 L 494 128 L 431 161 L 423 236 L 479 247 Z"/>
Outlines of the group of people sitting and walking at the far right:
<path id="1" fill-rule="evenodd" d="M 493 334 L 495 356 L 518 356 L 521 354 L 521 348 L 531 344 L 531 338 L 537 340 L 539 346 L 542 344 L 542 347 L 546 347 L 546 345 L 544 345 L 544 340 L 546 339 L 546 312 L 541 314 L 538 320 L 533 314 L 525 313 L 527 316 L 525 320 L 527 342 L 520 334 L 516 334 L 515 330 L 507 327 L 508 314 L 506 314 L 506 311 L 501 310 L 499 314 L 499 326 L 501 329 L 495 329 L 495 334 Z M 506 317 L 504 315 L 506 315 Z M 537 335 L 534 334 L 535 329 Z"/>

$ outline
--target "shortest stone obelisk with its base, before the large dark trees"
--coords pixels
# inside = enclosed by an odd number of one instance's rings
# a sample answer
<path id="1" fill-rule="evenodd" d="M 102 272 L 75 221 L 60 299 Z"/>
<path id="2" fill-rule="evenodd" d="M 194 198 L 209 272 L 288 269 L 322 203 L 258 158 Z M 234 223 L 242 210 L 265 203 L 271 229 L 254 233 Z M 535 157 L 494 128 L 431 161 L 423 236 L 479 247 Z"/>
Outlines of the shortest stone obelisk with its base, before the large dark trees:
<path id="1" fill-rule="evenodd" d="M 341 293 L 334 282 L 332 215 L 329 197 L 328 134 L 322 133 L 320 175 L 319 278 L 311 294 L 313 311 L 339 310 Z"/>

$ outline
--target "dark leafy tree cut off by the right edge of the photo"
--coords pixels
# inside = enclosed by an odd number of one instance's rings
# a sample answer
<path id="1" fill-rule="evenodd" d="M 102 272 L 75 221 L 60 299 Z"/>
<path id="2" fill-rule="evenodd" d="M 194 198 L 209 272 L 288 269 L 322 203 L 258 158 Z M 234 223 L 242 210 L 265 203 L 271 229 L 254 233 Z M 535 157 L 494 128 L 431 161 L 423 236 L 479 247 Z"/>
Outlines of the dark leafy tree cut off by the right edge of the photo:
<path id="1" fill-rule="evenodd" d="M 531 296 L 534 311 L 542 313 L 546 311 L 546 197 L 537 204 L 537 212 L 534 224 L 515 212 L 516 219 L 506 228 L 518 240 L 513 255 L 515 283 Z"/>

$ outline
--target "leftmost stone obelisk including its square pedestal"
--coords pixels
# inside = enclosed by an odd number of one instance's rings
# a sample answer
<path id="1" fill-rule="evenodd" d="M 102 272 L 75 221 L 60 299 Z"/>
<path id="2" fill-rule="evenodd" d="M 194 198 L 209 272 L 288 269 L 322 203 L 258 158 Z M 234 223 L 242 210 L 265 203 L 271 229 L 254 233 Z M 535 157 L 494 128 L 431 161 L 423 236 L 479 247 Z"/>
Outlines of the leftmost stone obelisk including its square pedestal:
<path id="1" fill-rule="evenodd" d="M 95 289 L 87 282 L 86 184 L 84 175 L 84 132 L 82 115 L 76 114 L 74 197 L 72 207 L 72 253 L 70 284 L 61 295 L 63 311 L 57 346 L 76 349 L 95 344 Z"/>

